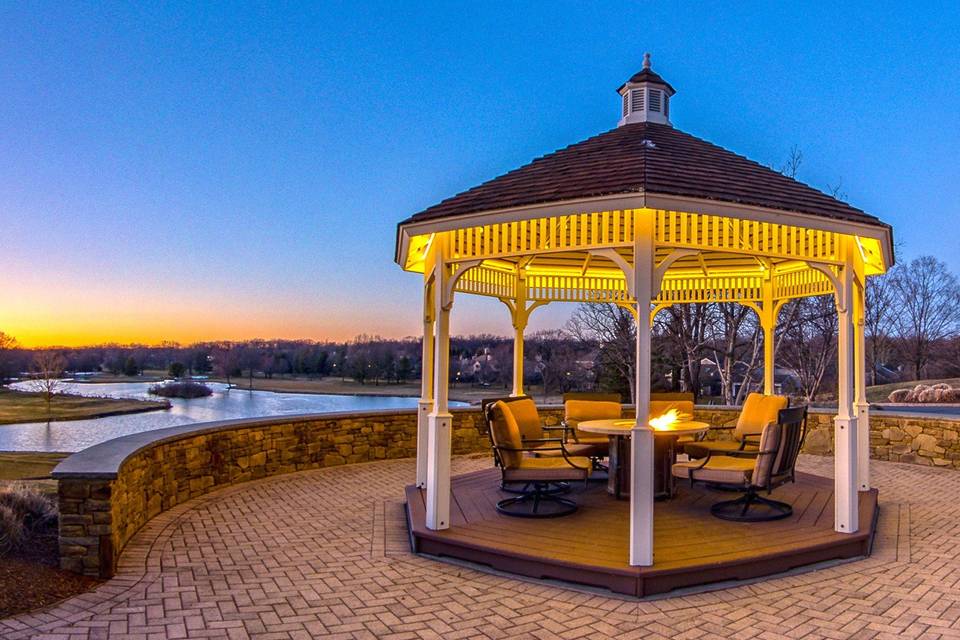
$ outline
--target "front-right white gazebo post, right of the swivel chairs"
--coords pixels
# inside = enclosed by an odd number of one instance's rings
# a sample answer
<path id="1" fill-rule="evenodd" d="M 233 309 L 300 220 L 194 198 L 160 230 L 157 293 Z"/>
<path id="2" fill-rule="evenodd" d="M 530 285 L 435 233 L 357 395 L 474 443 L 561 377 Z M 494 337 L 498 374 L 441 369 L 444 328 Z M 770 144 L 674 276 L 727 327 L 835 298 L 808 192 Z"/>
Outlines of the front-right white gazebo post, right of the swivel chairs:
<path id="1" fill-rule="evenodd" d="M 837 417 L 834 420 L 834 529 L 854 533 L 859 528 L 857 495 L 857 416 L 853 409 L 854 331 L 853 266 L 848 252 L 837 291 Z"/>

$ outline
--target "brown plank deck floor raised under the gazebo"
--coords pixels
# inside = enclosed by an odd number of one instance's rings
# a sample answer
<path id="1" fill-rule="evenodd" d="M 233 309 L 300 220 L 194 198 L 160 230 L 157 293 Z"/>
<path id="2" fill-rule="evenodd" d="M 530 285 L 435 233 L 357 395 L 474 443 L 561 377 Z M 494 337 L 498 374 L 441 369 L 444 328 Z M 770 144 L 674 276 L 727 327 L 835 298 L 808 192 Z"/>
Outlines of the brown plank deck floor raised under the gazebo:
<path id="1" fill-rule="evenodd" d="M 406 488 L 411 540 L 419 553 L 448 556 L 536 578 L 552 578 L 636 596 L 679 587 L 779 573 L 798 566 L 867 555 L 876 522 L 877 492 L 860 494 L 860 530 L 833 531 L 833 480 L 799 474 L 773 497 L 794 507 L 776 522 L 737 523 L 710 515 L 710 505 L 735 497 L 681 483 L 677 496 L 654 509 L 654 566 L 628 563 L 629 503 L 605 483 L 574 487 L 579 511 L 563 518 L 511 518 L 495 505 L 499 472 L 453 478 L 451 527 L 424 524 L 423 492 Z"/>

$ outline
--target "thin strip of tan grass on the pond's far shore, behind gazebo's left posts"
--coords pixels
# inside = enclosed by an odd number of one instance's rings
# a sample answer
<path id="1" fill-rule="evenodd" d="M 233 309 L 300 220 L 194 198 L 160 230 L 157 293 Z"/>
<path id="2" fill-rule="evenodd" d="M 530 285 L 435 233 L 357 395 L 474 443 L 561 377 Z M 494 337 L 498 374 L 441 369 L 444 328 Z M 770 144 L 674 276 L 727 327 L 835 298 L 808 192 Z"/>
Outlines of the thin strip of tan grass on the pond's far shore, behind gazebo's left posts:
<path id="1" fill-rule="evenodd" d="M 224 378 L 211 378 L 216 382 L 226 382 Z M 238 389 L 246 389 L 250 383 L 248 378 L 230 378 L 230 382 Z M 420 381 L 414 380 L 402 384 L 387 384 L 381 382 L 376 385 L 372 382 L 360 384 L 355 380 L 340 378 L 254 378 L 253 388 L 258 391 L 278 391 L 286 393 L 326 393 L 335 395 L 370 395 L 370 396 L 420 396 Z M 536 398 L 537 402 L 544 404 L 561 402 L 560 394 L 552 393 L 544 396 L 539 386 L 527 389 Z M 498 386 L 492 387 L 474 387 L 466 384 L 451 384 L 450 399 L 463 402 L 479 403 L 483 398 L 496 398 L 510 395 L 509 388 Z"/>

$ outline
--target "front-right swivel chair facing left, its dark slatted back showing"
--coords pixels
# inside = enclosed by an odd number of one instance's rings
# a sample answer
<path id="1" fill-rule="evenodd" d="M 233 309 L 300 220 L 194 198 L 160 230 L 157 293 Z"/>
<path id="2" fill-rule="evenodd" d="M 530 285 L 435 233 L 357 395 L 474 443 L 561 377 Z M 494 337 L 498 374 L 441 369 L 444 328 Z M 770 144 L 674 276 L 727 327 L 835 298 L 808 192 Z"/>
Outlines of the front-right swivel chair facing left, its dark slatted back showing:
<path id="1" fill-rule="evenodd" d="M 795 481 L 797 455 L 806 431 L 806 407 L 783 409 L 776 421 L 764 426 L 757 451 L 726 451 L 708 454 L 703 460 L 677 462 L 672 473 L 675 478 L 689 480 L 691 485 L 702 483 L 743 493 L 735 500 L 713 504 L 710 513 L 717 518 L 737 522 L 787 518 L 793 514 L 791 505 L 764 498 L 758 492 L 766 491 L 769 495 L 777 487 Z"/>

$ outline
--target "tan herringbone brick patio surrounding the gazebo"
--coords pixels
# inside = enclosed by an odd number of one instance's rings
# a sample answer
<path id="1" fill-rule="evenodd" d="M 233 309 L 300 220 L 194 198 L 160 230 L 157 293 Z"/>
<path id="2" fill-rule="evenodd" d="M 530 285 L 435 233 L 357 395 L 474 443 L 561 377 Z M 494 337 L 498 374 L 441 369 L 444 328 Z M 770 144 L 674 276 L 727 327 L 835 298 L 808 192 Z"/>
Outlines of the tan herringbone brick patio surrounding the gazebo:
<path id="1" fill-rule="evenodd" d="M 870 559 L 643 602 L 410 555 L 399 499 L 412 462 L 281 476 L 162 514 L 116 578 L 0 621 L 0 637 L 960 637 L 960 473 L 873 468 Z"/>

